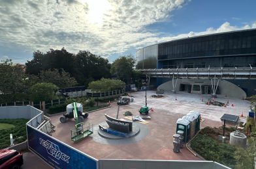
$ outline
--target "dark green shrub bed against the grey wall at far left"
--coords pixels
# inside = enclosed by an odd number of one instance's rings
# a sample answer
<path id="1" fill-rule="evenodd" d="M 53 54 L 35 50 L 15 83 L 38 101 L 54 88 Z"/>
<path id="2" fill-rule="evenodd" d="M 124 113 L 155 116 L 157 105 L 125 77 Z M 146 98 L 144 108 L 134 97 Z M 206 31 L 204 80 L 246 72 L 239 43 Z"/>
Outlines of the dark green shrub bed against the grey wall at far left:
<path id="1" fill-rule="evenodd" d="M 14 125 L 12 128 L 1 130 L 0 149 L 10 146 L 10 134 L 14 138 L 14 144 L 24 142 L 27 139 L 25 123 L 28 121 L 27 119 L 0 119 L 0 123 Z"/>

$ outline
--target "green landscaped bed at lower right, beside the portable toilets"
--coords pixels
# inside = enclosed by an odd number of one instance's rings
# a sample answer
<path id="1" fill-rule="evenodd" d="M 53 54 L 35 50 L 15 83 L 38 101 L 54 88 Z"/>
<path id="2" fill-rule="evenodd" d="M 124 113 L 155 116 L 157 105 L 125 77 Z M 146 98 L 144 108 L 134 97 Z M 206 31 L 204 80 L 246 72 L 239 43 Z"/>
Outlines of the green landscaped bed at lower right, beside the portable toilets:
<path id="1" fill-rule="evenodd" d="M 216 161 L 230 168 L 253 168 L 253 155 L 248 152 L 251 148 L 242 149 L 229 144 L 229 134 L 234 127 L 225 128 L 225 143 L 219 140 L 223 127 L 205 127 L 191 141 L 191 148 L 207 161 Z M 254 154 L 254 153 L 252 153 Z"/>

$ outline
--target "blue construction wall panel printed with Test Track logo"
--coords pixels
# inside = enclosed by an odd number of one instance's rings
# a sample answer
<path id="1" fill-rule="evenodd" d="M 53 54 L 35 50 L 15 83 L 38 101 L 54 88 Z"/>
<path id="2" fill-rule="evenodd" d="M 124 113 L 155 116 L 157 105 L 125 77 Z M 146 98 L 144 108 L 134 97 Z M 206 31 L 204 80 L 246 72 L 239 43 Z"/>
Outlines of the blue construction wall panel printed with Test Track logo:
<path id="1" fill-rule="evenodd" d="M 29 125 L 27 144 L 29 149 L 54 168 L 97 168 L 97 159 L 88 157 Z"/>

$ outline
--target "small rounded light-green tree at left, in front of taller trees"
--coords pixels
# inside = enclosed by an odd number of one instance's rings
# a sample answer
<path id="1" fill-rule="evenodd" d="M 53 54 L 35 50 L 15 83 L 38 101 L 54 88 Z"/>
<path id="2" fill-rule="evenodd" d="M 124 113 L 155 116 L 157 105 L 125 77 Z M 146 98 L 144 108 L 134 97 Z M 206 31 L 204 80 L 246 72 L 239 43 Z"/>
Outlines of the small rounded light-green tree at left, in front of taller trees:
<path id="1" fill-rule="evenodd" d="M 29 89 L 30 98 L 33 101 L 46 101 L 56 98 L 58 87 L 52 83 L 37 83 Z"/>

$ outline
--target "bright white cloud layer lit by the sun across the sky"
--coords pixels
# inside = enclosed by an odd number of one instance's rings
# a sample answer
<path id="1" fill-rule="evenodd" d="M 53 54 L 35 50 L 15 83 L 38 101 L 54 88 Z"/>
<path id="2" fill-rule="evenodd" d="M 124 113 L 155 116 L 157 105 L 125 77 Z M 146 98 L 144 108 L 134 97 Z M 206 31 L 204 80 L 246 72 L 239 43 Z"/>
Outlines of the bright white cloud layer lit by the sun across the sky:
<path id="1" fill-rule="evenodd" d="M 255 28 L 228 22 L 204 32 L 163 36 L 146 26 L 170 17 L 185 0 L 1 0 L 0 46 L 12 44 L 24 51 L 48 51 L 65 47 L 72 53 L 89 50 L 108 57 L 127 49 L 143 47 L 176 38 L 214 32 Z M 8 42 L 8 43 L 7 43 Z M 18 57 L 18 56 L 17 56 Z"/>

